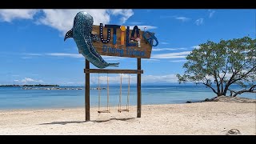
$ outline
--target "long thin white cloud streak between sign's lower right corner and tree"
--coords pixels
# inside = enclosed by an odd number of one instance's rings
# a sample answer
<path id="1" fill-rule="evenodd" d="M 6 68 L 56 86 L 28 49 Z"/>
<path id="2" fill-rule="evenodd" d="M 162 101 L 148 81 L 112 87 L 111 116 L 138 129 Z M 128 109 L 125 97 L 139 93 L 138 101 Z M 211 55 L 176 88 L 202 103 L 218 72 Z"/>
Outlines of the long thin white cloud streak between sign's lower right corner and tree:
<path id="1" fill-rule="evenodd" d="M 191 51 L 183 51 L 179 53 L 154 54 L 151 58 L 186 58 Z"/>

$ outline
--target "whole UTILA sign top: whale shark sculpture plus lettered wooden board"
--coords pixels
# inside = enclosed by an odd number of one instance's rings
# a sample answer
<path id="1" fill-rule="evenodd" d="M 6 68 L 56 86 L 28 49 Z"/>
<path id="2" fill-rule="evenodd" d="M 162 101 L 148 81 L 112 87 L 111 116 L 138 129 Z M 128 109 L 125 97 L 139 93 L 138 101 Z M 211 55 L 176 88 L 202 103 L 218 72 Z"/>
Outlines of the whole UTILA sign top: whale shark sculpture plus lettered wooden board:
<path id="1" fill-rule="evenodd" d="M 74 38 L 78 52 L 98 68 L 118 66 L 108 63 L 101 55 L 150 58 L 152 46 L 158 46 L 154 33 L 141 31 L 138 26 L 93 25 L 94 18 L 84 11 L 74 17 L 73 27 L 66 33 L 66 38 Z"/>

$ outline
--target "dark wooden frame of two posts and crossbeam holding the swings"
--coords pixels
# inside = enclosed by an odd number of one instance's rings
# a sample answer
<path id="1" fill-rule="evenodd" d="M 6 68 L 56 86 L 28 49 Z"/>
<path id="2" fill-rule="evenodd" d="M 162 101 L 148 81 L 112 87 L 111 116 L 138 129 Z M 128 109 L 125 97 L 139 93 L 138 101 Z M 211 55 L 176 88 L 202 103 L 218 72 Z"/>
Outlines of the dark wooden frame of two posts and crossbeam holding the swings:
<path id="1" fill-rule="evenodd" d="M 141 58 L 137 58 L 137 70 L 90 69 L 90 62 L 86 59 L 86 69 L 84 69 L 84 73 L 86 75 L 86 92 L 85 92 L 86 121 L 90 121 L 90 73 L 137 74 L 137 118 L 141 118 L 141 115 L 142 115 L 141 76 L 143 74 L 143 70 L 141 69 L 142 69 Z"/>

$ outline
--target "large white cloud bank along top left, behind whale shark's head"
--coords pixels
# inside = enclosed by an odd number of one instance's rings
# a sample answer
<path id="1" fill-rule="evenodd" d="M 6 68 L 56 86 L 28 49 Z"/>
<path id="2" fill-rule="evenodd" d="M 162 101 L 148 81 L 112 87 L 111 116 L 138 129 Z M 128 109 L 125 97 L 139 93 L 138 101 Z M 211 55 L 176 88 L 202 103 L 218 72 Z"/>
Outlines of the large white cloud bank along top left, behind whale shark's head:
<path id="1" fill-rule="evenodd" d="M 66 34 L 73 26 L 74 16 L 79 11 L 86 11 L 88 14 L 94 17 L 94 25 L 99 25 L 99 23 L 109 23 L 111 15 L 120 15 L 121 23 L 125 23 L 128 18 L 130 18 L 134 12 L 133 10 L 103 10 L 103 9 L 71 9 L 71 10 L 26 10 L 26 9 L 8 9 L 0 10 L 0 18 L 3 21 L 11 22 L 16 19 L 33 19 L 34 14 L 42 11 L 44 16 L 36 19 L 37 24 L 42 24 L 46 26 L 53 27 L 59 30 L 62 34 Z"/>

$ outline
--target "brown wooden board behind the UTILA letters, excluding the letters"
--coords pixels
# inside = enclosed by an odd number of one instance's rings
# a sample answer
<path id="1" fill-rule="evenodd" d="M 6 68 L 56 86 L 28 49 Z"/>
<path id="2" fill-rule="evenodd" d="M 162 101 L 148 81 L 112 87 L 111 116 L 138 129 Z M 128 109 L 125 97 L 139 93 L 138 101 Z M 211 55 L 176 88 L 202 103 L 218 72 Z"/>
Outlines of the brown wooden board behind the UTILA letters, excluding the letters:
<path id="1" fill-rule="evenodd" d="M 114 44 L 114 29 L 106 28 L 106 26 L 102 26 L 102 35 L 103 39 L 107 40 L 108 30 L 110 29 L 110 38 L 109 42 L 103 43 L 101 38 L 100 26 L 93 26 L 92 34 L 95 34 L 99 41 L 93 42 L 94 48 L 101 55 L 115 56 L 115 57 L 129 57 L 129 58 L 150 58 L 152 46 L 146 39 L 143 38 L 144 31 L 139 31 L 140 44 L 138 41 L 134 40 L 132 42 L 129 38 L 129 43 L 134 43 L 135 46 L 126 46 L 126 30 L 124 31 L 124 26 L 122 30 L 120 28 L 116 28 L 116 41 Z M 129 36 L 132 34 L 133 29 L 130 30 Z M 136 33 L 135 33 L 136 35 Z M 137 35 L 135 36 L 137 38 Z M 106 42 L 106 41 L 105 41 Z M 140 45 L 140 47 L 139 47 Z"/>

